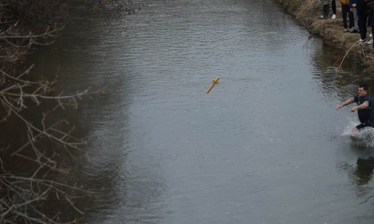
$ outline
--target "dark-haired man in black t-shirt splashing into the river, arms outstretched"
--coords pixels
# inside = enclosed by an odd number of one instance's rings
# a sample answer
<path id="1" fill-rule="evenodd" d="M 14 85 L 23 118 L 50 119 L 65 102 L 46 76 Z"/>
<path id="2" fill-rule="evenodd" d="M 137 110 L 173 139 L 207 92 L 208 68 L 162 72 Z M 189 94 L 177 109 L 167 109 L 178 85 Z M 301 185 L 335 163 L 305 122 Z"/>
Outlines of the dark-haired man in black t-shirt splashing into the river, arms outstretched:
<path id="1" fill-rule="evenodd" d="M 364 127 L 374 127 L 374 104 L 372 98 L 368 95 L 368 86 L 359 86 L 359 95 L 354 98 L 346 100 L 343 104 L 338 105 L 336 110 L 343 108 L 352 103 L 357 103 L 356 107 L 351 108 L 351 112 L 359 114 L 361 124 L 352 128 L 352 132 L 355 132 Z"/>

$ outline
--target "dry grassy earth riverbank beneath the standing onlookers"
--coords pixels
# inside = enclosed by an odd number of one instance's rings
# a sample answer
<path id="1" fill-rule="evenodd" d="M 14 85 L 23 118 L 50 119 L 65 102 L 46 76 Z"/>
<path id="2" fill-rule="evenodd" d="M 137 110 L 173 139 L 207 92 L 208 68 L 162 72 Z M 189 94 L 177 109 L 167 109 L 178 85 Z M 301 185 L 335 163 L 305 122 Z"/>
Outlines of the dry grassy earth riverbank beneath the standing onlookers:
<path id="1" fill-rule="evenodd" d="M 276 0 L 280 3 L 287 13 L 293 15 L 295 20 L 302 26 L 306 27 L 313 35 L 323 37 L 326 42 L 333 46 L 343 48 L 355 54 L 359 61 L 362 62 L 364 70 L 368 73 L 374 72 L 374 49 L 373 44 L 359 44 L 359 33 L 343 33 L 342 5 L 336 0 L 337 18 L 332 19 L 331 6 L 330 18 L 323 19 L 321 15 L 321 0 Z M 349 23 L 349 22 L 348 22 Z M 372 32 L 368 27 L 367 38 L 371 39 L 369 34 Z M 339 66 L 340 63 L 337 63 Z"/>

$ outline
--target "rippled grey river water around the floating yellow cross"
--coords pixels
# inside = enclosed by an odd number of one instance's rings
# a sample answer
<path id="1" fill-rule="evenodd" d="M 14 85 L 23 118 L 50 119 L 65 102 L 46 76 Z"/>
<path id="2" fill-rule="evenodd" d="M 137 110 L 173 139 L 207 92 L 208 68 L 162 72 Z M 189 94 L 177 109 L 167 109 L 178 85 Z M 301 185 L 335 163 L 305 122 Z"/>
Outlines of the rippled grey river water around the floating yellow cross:
<path id="1" fill-rule="evenodd" d="M 112 28 L 75 8 L 62 49 L 32 56 L 69 90 L 109 85 L 65 114 L 93 138 L 83 223 L 374 222 L 374 144 L 335 110 L 369 77 L 334 72 L 344 52 L 272 0 L 149 3 Z"/>

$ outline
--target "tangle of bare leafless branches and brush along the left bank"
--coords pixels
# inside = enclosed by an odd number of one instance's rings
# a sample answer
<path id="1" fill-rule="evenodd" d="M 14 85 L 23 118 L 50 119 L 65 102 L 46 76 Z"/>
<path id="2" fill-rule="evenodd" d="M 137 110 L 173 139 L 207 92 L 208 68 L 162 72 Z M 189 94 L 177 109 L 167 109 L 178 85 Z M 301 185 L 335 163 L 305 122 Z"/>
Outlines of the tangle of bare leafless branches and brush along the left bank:
<path id="1" fill-rule="evenodd" d="M 75 217 L 64 217 L 58 209 L 47 212 L 43 205 L 65 203 L 83 214 L 75 202 L 91 194 L 83 186 L 53 180 L 55 174 L 67 171 L 60 163 L 63 157 L 75 159 L 72 152 L 82 151 L 88 139 L 74 137 L 74 127 L 63 118 L 51 123 L 48 114 L 77 109 L 82 97 L 102 94 L 105 88 L 56 93 L 57 80 L 31 75 L 34 65 L 25 71 L 15 69 L 34 49 L 58 40 L 63 26 L 57 22 L 67 8 L 67 0 L 0 2 L 0 124 L 3 133 L 4 127 L 19 125 L 20 145 L 0 141 L 0 224 L 75 223 Z M 40 111 L 40 105 L 54 106 Z M 22 165 L 27 170 L 22 171 Z"/>

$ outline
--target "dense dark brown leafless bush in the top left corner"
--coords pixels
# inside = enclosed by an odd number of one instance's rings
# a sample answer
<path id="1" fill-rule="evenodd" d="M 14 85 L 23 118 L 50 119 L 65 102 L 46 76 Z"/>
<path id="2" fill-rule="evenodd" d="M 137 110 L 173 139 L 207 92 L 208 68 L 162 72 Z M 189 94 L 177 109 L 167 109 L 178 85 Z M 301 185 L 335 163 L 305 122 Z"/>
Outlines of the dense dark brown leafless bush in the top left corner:
<path id="1" fill-rule="evenodd" d="M 34 45 L 50 44 L 67 7 L 67 0 L 1 0 L 0 67 L 11 67 L 7 64 L 16 63 Z"/>

